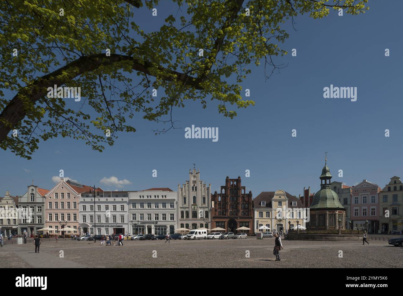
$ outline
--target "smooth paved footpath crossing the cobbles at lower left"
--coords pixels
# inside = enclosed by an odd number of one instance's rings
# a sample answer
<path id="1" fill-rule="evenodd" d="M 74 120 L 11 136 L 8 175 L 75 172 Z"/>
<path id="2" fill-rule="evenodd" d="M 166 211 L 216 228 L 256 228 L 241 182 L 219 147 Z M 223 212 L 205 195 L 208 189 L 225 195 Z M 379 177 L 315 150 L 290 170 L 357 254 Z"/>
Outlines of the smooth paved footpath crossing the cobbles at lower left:
<path id="1" fill-rule="evenodd" d="M 30 244 L 7 244 L 0 249 L 1 262 L 12 259 L 15 267 L 26 268 L 85 268 L 87 266 L 60 258 L 57 255 L 50 254 L 43 250 L 42 246 L 39 253 L 35 253 L 35 246 Z"/>

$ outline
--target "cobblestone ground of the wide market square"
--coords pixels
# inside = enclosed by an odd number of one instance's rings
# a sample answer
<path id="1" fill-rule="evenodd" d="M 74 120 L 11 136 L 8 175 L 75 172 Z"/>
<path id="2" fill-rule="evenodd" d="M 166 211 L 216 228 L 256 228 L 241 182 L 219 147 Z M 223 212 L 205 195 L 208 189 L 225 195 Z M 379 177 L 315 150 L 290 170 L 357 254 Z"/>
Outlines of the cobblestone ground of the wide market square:
<path id="1" fill-rule="evenodd" d="M 32 243 L 7 244 L 0 248 L 0 260 L 4 267 L 403 267 L 403 248 L 369 242 L 283 240 L 281 261 L 274 261 L 274 238 L 125 241 L 124 246 L 45 239 L 40 254 Z"/>

